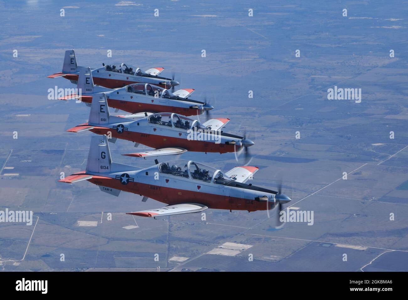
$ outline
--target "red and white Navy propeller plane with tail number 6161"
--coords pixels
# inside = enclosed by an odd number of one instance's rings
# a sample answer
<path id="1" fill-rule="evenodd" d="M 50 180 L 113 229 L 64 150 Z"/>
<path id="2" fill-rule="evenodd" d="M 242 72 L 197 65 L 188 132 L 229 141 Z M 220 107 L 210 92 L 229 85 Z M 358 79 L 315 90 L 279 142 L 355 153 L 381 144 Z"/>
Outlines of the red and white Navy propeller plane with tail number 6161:
<path id="1" fill-rule="evenodd" d="M 139 113 L 111 116 L 106 94 L 92 98 L 89 121 L 68 129 L 70 132 L 92 131 L 109 135 L 110 142 L 116 139 L 135 142 L 135 147 L 144 144 L 151 151 L 124 154 L 143 157 L 178 155 L 186 151 L 236 152 L 252 146 L 254 142 L 242 136 L 225 133 L 221 129 L 229 122 L 227 118 L 211 119 L 203 124 L 177 113 Z M 247 152 L 248 150 L 246 150 Z"/>

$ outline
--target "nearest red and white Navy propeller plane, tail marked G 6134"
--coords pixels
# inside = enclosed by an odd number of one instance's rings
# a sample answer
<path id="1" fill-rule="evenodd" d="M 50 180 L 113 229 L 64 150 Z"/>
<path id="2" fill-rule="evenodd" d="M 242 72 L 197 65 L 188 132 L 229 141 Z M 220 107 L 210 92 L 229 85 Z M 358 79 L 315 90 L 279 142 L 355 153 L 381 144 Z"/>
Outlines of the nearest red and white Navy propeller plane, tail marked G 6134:
<path id="1" fill-rule="evenodd" d="M 281 191 L 256 187 L 245 182 L 257 167 L 235 167 L 223 173 L 204 164 L 179 160 L 159 163 L 143 169 L 112 161 L 106 135 L 91 138 L 86 170 L 60 182 L 82 180 L 96 184 L 101 191 L 118 196 L 120 191 L 140 194 L 168 204 L 160 209 L 128 213 L 142 217 L 197 213 L 205 209 L 269 210 L 291 199 Z M 279 188 L 280 189 L 280 188 Z"/>

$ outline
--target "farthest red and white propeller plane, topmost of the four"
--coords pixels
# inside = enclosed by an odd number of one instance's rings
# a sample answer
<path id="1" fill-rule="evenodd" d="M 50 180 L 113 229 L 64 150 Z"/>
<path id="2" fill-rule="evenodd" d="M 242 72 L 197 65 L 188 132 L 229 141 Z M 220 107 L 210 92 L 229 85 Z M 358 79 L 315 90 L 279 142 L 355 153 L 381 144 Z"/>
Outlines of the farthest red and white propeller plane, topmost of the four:
<path id="1" fill-rule="evenodd" d="M 170 87 L 180 84 L 174 79 L 157 76 L 164 70 L 164 68 L 151 68 L 146 71 L 142 71 L 140 68 L 133 68 L 129 64 L 123 63 L 118 65 L 102 65 L 102 68 L 92 69 L 95 84 L 102 87 L 115 89 L 118 87 L 124 87 L 127 84 L 145 82 L 169 89 Z M 78 81 L 79 71 L 82 68 L 83 67 L 80 67 L 77 64 L 75 51 L 67 50 L 65 51 L 62 72 L 58 72 L 47 77 L 64 77 L 76 84 Z"/>

